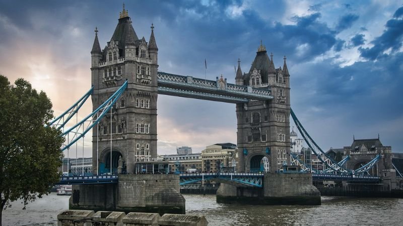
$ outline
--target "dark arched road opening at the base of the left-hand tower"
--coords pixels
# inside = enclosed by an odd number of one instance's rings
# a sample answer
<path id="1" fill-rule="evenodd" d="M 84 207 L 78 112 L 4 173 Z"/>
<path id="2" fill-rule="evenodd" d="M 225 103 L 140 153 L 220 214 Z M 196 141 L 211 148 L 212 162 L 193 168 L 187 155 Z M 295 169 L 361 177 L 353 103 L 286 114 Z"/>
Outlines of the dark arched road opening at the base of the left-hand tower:
<path id="1" fill-rule="evenodd" d="M 111 161 L 112 154 L 112 161 Z M 119 163 L 119 159 L 121 163 Z M 112 164 L 112 174 L 118 173 L 119 164 L 123 167 L 124 155 L 122 151 L 118 148 L 112 148 L 112 152 L 110 148 L 105 148 L 102 150 L 99 157 L 99 173 L 110 173 L 111 172 L 111 164 Z"/>

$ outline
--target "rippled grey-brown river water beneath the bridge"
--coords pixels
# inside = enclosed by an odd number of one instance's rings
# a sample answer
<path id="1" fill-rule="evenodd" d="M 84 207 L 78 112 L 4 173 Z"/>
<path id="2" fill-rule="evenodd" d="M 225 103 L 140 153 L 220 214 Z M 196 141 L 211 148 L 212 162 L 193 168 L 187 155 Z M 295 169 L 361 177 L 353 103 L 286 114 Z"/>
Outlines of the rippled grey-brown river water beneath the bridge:
<path id="1" fill-rule="evenodd" d="M 216 203 L 215 195 L 183 195 L 186 214 L 205 215 L 209 225 L 403 225 L 403 199 L 322 197 L 320 206 Z M 3 225 L 57 225 L 70 196 L 51 193 L 23 210 L 21 201 L 3 210 Z"/>

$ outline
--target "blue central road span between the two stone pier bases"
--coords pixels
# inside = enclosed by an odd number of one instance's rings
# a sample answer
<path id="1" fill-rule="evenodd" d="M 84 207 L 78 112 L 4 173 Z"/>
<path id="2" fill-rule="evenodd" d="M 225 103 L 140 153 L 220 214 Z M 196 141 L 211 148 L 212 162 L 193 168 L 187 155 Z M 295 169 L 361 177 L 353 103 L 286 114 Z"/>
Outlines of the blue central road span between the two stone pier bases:
<path id="1" fill-rule="evenodd" d="M 262 173 L 181 173 L 180 185 L 202 180 L 219 180 L 237 183 L 249 187 L 263 187 Z"/>

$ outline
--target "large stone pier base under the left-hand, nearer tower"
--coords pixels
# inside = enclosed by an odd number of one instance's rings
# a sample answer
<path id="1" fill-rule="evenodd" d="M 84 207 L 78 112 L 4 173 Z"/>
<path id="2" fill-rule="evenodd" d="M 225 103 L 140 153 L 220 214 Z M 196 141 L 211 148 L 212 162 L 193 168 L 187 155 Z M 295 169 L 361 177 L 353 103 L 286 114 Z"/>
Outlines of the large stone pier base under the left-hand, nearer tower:
<path id="1" fill-rule="evenodd" d="M 70 209 L 185 213 L 179 175 L 119 175 L 117 184 L 73 185 Z"/>

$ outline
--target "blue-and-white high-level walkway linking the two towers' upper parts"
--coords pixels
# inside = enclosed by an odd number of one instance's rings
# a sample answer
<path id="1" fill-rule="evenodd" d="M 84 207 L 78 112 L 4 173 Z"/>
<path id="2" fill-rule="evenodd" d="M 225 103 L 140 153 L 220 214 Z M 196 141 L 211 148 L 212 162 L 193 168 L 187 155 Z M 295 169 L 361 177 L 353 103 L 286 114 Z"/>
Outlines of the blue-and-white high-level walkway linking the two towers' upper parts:
<path id="1" fill-rule="evenodd" d="M 158 72 L 158 93 L 165 95 L 214 100 L 228 103 L 246 103 L 248 100 L 269 100 L 271 89 L 227 83 L 227 79 L 207 80 Z"/>

